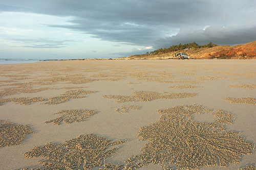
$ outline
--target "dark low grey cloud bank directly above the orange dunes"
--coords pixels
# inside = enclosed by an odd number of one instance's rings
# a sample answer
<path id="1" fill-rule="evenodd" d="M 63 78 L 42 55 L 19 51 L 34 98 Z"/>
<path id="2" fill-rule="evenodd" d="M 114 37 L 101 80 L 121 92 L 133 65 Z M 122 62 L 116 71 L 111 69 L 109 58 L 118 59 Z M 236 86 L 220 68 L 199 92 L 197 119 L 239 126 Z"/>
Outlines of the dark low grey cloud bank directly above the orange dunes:
<path id="1" fill-rule="evenodd" d="M 210 41 L 219 45 L 236 45 L 256 40 L 256 24 L 243 27 L 214 27 L 205 30 L 181 30 L 176 36 L 160 38 L 155 41 L 155 48 L 169 47 L 179 43 L 197 42 L 208 44 Z"/>

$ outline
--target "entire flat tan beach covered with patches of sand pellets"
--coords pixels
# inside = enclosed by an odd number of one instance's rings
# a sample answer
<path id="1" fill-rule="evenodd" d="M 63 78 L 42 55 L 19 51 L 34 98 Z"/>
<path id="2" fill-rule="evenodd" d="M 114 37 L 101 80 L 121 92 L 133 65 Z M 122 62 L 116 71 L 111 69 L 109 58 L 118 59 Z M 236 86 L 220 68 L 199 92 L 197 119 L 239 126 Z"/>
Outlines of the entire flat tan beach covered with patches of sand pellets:
<path id="1" fill-rule="evenodd" d="M 0 169 L 253 167 L 255 68 L 256 60 L 0 65 L 0 140 L 25 135 L 1 145 Z"/>

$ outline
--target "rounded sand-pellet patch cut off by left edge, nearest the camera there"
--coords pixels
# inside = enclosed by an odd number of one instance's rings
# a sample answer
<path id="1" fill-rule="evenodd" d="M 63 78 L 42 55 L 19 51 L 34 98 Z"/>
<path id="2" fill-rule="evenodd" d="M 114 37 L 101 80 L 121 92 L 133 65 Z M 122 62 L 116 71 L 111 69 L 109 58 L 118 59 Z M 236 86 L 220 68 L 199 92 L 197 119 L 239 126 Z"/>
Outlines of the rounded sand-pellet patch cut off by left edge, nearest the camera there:
<path id="1" fill-rule="evenodd" d="M 28 134 L 34 133 L 27 125 L 16 125 L 0 120 L 0 148 L 22 144 Z"/>

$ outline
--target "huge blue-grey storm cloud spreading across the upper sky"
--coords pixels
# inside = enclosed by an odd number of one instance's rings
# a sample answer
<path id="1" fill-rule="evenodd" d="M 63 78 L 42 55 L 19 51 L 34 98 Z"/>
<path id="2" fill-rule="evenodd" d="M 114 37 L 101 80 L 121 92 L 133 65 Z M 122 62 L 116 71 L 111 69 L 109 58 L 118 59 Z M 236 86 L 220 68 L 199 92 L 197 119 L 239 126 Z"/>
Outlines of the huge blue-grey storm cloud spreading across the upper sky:
<path id="1" fill-rule="evenodd" d="M 72 16 L 73 25 L 50 27 L 72 29 L 106 41 L 145 46 L 215 40 L 227 44 L 245 43 L 251 41 L 251 37 L 244 24 L 255 21 L 254 0 L 9 0 L 1 2 L 0 6 L 2 11 Z M 205 26 L 210 27 L 203 30 Z M 220 28 L 207 32 L 215 27 Z M 177 36 L 166 37 L 179 29 Z M 245 33 L 247 36 L 242 36 Z"/>

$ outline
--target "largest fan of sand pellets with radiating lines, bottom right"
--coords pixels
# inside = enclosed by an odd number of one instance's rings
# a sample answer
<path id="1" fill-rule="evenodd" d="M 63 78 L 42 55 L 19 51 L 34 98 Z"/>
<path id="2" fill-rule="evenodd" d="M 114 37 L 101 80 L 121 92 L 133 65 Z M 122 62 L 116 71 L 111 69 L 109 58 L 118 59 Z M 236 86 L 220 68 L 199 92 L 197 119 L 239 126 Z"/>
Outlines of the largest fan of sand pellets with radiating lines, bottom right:
<path id="1" fill-rule="evenodd" d="M 141 155 L 126 161 L 126 166 L 136 168 L 160 163 L 165 169 L 175 169 L 168 164 L 181 169 L 227 167 L 230 163 L 239 163 L 242 155 L 252 153 L 254 145 L 238 136 L 238 132 L 228 131 L 218 123 L 193 121 L 193 114 L 210 112 L 225 117 L 230 123 L 231 113 L 201 106 L 175 106 L 157 112 L 163 114 L 158 122 L 142 127 L 138 133 L 140 139 L 149 142 L 142 148 Z"/>

